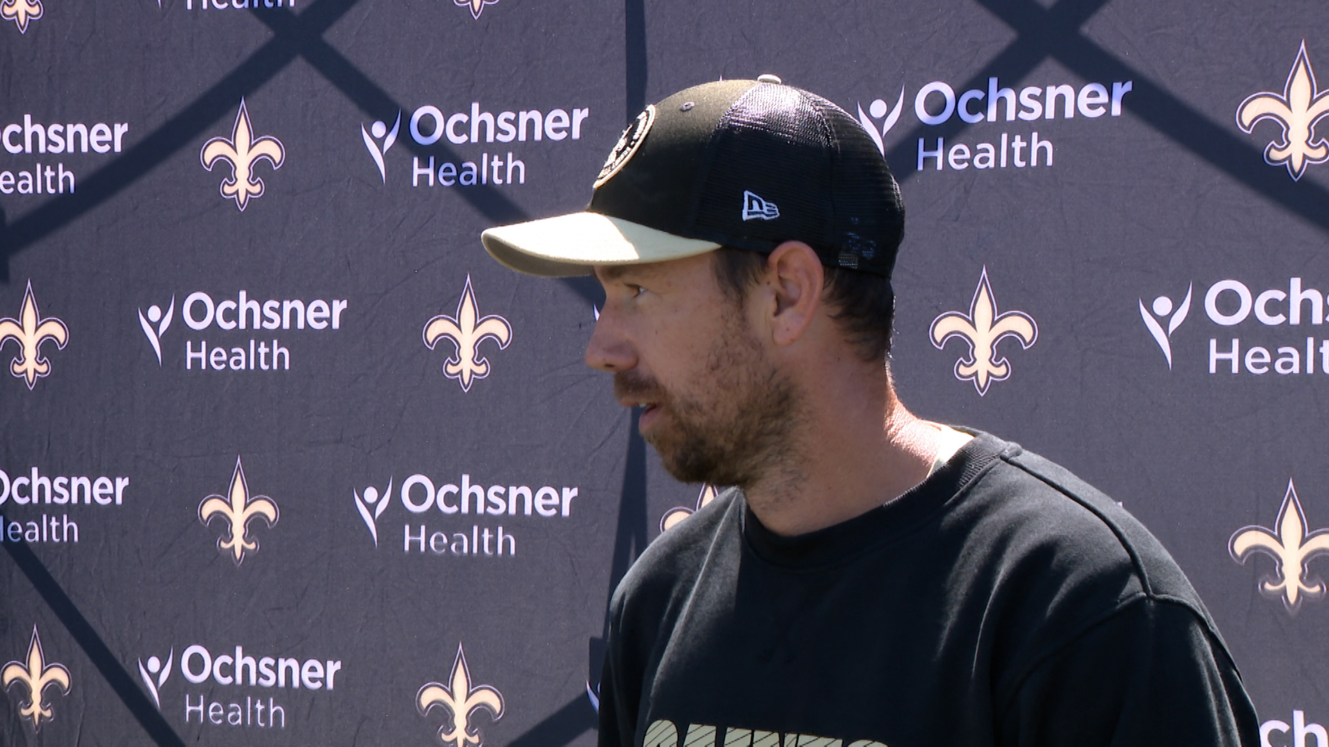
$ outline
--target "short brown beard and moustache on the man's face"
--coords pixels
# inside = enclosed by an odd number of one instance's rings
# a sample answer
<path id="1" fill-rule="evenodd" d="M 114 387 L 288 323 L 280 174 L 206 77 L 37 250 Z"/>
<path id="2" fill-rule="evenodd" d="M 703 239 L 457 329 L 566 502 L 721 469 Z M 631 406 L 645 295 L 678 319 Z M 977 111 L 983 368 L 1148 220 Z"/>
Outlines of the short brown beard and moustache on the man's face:
<path id="1" fill-rule="evenodd" d="M 793 381 L 767 360 L 742 314 L 726 314 L 696 371 L 674 389 L 635 371 L 614 375 L 615 397 L 657 403 L 666 416 L 643 435 L 664 469 L 683 482 L 739 488 L 793 469 L 801 400 Z"/>

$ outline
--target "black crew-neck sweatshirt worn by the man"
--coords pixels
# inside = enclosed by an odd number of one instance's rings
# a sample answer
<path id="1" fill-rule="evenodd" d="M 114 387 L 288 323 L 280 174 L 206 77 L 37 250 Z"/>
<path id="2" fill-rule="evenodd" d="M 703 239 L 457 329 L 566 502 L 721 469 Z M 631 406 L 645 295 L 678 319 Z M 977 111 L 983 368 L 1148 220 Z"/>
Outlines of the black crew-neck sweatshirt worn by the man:
<path id="1" fill-rule="evenodd" d="M 1158 540 L 986 433 L 809 534 L 738 490 L 670 529 L 614 594 L 599 695 L 602 747 L 1260 743 Z"/>

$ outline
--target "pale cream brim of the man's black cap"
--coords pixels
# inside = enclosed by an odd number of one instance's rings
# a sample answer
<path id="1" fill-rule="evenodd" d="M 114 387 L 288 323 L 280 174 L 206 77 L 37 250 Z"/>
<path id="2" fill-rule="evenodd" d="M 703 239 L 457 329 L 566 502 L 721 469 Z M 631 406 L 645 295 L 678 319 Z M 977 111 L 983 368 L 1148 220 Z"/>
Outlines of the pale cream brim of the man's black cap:
<path id="1" fill-rule="evenodd" d="M 599 213 L 571 213 L 497 226 L 480 234 L 480 241 L 502 265 L 550 278 L 589 275 L 601 265 L 682 259 L 720 247 L 715 242 L 675 237 Z"/>

